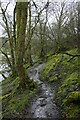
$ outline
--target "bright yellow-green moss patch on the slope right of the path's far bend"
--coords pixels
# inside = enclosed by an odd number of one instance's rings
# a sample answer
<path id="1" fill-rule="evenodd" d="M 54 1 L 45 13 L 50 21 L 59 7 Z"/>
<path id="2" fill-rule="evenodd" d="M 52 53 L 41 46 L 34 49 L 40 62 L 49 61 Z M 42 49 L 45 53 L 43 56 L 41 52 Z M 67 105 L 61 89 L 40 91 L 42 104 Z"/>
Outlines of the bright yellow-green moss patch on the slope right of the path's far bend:
<path id="1" fill-rule="evenodd" d="M 46 77 L 50 77 L 50 75 L 52 75 L 55 78 L 54 72 L 56 70 L 57 64 L 61 60 L 61 56 L 61 54 L 56 54 L 48 58 L 46 64 L 43 67 L 43 70 L 41 71 L 41 78 L 43 80 L 46 79 Z M 52 78 L 50 80 L 52 80 Z"/>

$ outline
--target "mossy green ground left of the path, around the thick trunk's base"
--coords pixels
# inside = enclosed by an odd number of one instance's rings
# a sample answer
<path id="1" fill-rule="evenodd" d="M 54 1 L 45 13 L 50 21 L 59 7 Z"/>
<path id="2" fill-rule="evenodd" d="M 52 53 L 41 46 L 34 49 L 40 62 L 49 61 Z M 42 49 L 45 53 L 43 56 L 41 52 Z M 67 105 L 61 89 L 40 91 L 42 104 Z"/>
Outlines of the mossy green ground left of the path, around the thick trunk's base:
<path id="1" fill-rule="evenodd" d="M 18 77 L 9 76 L 2 81 L 2 115 L 4 118 L 19 117 L 23 115 L 31 97 L 39 90 L 37 84 L 31 81 L 25 90 L 19 88 Z"/>

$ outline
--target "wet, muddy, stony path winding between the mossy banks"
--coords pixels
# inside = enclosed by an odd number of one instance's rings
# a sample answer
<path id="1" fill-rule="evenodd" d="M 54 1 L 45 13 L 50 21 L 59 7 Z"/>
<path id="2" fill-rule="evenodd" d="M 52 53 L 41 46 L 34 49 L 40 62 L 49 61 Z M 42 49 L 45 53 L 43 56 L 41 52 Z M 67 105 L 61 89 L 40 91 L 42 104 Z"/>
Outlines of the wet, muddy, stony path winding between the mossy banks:
<path id="1" fill-rule="evenodd" d="M 59 108 L 55 102 L 55 91 L 57 86 L 42 82 L 39 73 L 43 64 L 32 68 L 29 72 L 30 79 L 33 79 L 39 86 L 40 92 L 35 95 L 28 109 L 25 110 L 25 118 L 59 118 Z"/>

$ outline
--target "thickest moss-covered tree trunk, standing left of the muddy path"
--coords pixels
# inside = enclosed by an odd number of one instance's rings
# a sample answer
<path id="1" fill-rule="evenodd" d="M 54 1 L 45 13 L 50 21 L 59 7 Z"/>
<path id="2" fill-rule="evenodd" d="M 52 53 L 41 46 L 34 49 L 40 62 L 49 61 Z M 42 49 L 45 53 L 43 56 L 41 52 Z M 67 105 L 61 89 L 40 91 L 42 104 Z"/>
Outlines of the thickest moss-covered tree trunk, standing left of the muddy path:
<path id="1" fill-rule="evenodd" d="M 26 88 L 26 73 L 23 66 L 23 58 L 25 53 L 25 33 L 26 33 L 26 24 L 27 24 L 27 10 L 28 10 L 28 1 L 27 2 L 17 2 L 16 8 L 16 25 L 17 25 L 17 41 L 16 41 L 16 67 L 20 80 L 20 86 Z"/>

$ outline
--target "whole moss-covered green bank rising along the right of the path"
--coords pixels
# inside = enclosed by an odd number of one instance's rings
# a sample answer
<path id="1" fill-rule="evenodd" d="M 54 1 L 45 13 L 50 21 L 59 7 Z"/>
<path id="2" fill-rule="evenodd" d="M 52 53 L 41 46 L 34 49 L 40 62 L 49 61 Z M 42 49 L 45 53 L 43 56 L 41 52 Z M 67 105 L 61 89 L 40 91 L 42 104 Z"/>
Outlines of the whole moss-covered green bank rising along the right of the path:
<path id="1" fill-rule="evenodd" d="M 41 79 L 50 83 L 60 83 L 56 92 L 56 102 L 61 107 L 61 113 L 66 118 L 80 117 L 80 57 L 77 49 L 49 55 Z"/>

